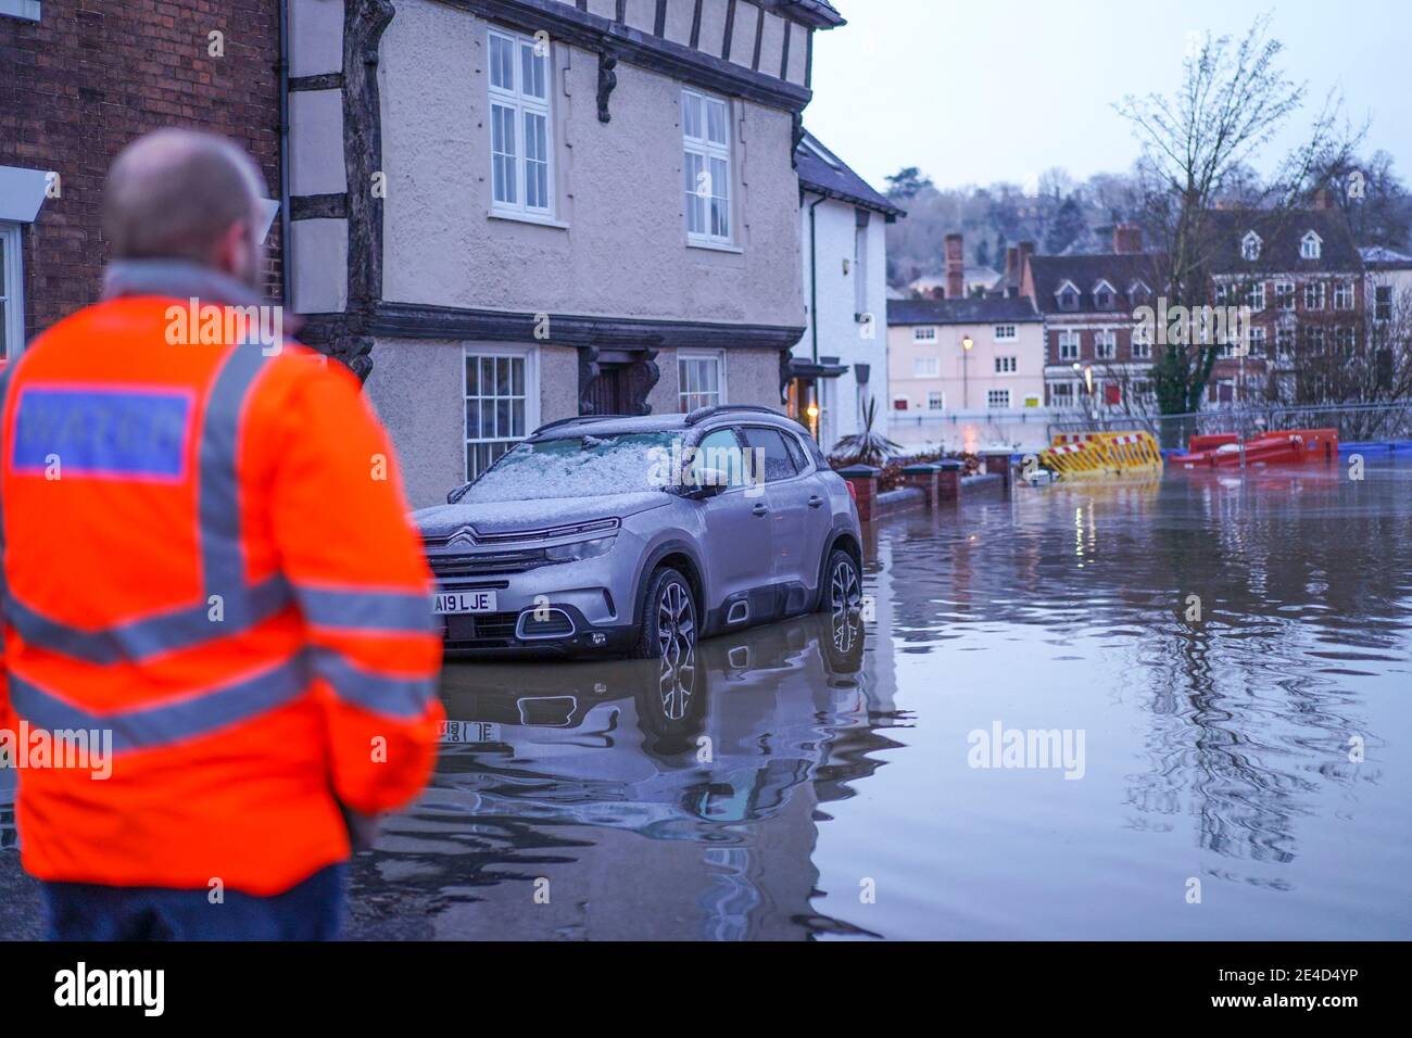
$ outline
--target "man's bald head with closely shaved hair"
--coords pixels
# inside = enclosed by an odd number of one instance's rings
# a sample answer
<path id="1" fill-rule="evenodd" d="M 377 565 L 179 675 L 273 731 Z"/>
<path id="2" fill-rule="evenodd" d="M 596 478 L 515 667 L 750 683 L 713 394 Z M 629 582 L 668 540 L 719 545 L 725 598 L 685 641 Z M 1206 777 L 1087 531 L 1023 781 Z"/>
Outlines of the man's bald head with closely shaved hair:
<path id="1" fill-rule="evenodd" d="M 109 169 L 103 233 L 114 258 L 192 260 L 256 284 L 263 191 L 254 161 L 225 137 L 157 130 Z"/>

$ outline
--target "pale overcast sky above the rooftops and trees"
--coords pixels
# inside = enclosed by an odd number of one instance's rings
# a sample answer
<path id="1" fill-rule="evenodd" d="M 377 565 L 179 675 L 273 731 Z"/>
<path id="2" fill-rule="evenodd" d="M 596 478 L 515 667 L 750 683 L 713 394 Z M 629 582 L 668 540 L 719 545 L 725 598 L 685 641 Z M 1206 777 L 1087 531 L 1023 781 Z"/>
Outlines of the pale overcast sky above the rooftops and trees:
<path id="1" fill-rule="evenodd" d="M 1281 151 L 1337 89 L 1356 123 L 1371 119 L 1365 151 L 1412 182 L 1408 0 L 833 1 L 849 24 L 815 34 L 805 123 L 880 191 L 905 165 L 938 186 L 1124 171 L 1138 144 L 1113 102 L 1171 92 L 1189 34 L 1240 37 L 1262 11 L 1286 73 L 1309 83 Z"/>

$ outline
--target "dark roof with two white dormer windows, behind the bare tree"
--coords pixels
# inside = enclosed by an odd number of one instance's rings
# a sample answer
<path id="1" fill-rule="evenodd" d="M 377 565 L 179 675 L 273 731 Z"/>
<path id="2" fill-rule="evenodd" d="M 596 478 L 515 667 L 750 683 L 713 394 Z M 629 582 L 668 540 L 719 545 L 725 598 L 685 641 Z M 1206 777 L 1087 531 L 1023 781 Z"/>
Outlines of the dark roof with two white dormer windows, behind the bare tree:
<path id="1" fill-rule="evenodd" d="M 1248 232 L 1260 234 L 1258 260 L 1241 256 Z M 1299 244 L 1315 232 L 1322 240 L 1320 257 L 1305 260 Z M 1207 215 L 1211 237 L 1211 271 L 1216 274 L 1299 274 L 1363 270 L 1348 220 L 1337 209 L 1217 209 Z"/>

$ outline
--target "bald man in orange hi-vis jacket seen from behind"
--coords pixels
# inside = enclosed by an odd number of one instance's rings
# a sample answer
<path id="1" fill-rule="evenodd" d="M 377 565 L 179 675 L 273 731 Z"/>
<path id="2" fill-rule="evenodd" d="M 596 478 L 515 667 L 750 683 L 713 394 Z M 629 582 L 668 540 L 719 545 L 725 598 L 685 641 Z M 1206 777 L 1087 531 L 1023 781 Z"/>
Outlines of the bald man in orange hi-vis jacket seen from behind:
<path id="1" fill-rule="evenodd" d="M 268 333 L 260 193 L 222 138 L 131 144 L 104 301 L 0 374 L 0 750 L 55 938 L 336 936 L 350 833 L 432 767 L 391 443 Z"/>

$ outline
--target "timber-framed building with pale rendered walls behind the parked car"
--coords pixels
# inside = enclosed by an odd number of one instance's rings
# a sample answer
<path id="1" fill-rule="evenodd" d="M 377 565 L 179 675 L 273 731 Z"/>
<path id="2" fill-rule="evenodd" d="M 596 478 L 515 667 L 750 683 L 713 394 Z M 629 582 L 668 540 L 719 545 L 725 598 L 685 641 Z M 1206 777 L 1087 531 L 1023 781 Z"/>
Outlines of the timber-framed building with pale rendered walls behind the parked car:
<path id="1" fill-rule="evenodd" d="M 415 503 L 555 418 L 781 407 L 827 3 L 294 10 L 294 304 L 371 352 Z"/>

